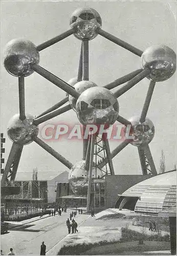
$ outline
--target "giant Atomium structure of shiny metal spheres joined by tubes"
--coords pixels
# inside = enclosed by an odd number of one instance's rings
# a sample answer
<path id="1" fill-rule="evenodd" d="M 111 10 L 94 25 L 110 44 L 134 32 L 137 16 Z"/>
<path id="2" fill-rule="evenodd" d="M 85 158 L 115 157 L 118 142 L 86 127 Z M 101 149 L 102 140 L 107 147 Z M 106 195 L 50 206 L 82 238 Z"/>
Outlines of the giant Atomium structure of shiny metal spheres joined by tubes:
<path id="1" fill-rule="evenodd" d="M 91 184 L 93 182 L 89 183 L 89 172 L 91 172 L 90 175 L 92 177 L 92 181 L 93 179 L 97 179 L 98 176 L 100 179 L 103 179 L 105 175 L 114 175 L 112 158 L 115 157 L 129 143 L 139 147 L 138 150 L 141 150 L 141 156 L 144 156 L 142 158 L 140 156 L 140 160 L 145 161 L 143 159 L 146 157 L 150 166 L 150 172 L 153 175 L 157 175 L 157 170 L 154 166 L 150 149 L 148 147 L 148 144 L 151 142 L 154 136 L 154 125 L 146 117 L 146 115 L 156 82 L 169 79 L 174 74 L 176 69 L 175 53 L 169 47 L 163 45 L 151 46 L 145 51 L 142 51 L 127 44 L 127 42 L 122 41 L 116 36 L 102 30 L 101 26 L 102 20 L 96 10 L 92 8 L 77 9 L 71 16 L 71 28 L 68 31 L 65 31 L 62 34 L 43 42 L 37 47 L 31 41 L 14 39 L 7 44 L 5 51 L 4 66 L 11 75 L 18 77 L 19 89 L 20 115 L 15 115 L 10 120 L 8 125 L 8 136 L 13 142 L 11 151 L 16 150 L 16 152 L 13 152 L 15 156 L 15 154 L 17 155 L 19 150 L 21 150 L 21 145 L 26 145 L 34 141 L 53 157 L 71 169 L 69 174 L 69 183 L 73 192 L 79 195 L 85 195 L 87 193 L 88 186 L 93 189 L 93 184 Z M 79 40 L 82 40 L 80 61 L 78 76 L 70 79 L 68 83 L 66 83 L 54 74 L 38 66 L 39 52 L 72 34 Z M 94 82 L 91 82 L 89 78 L 89 40 L 94 39 L 98 34 L 99 36 L 102 36 L 114 42 L 116 45 L 119 45 L 120 47 L 141 57 L 142 69 L 138 69 L 124 75 L 121 78 L 104 85 L 104 87 L 98 87 Z M 36 118 L 25 114 L 24 93 L 24 77 L 29 76 L 34 71 L 42 77 L 48 79 L 50 82 L 54 83 L 57 87 L 64 90 L 65 93 L 67 93 L 67 96 L 69 95 L 69 102 L 68 97 L 65 97 Z M 119 103 L 117 98 L 134 87 L 145 77 L 151 81 L 149 82 L 149 89 L 144 102 L 141 118 L 132 117 L 128 121 L 119 115 Z M 119 87 L 120 85 L 122 85 L 121 88 Z M 112 89 L 116 89 L 117 91 L 114 91 L 113 93 L 110 91 Z M 64 105 L 65 103 L 67 104 Z M 77 117 L 84 127 L 87 124 L 95 124 L 98 126 L 104 124 L 106 127 L 108 127 L 109 125 L 114 124 L 116 121 L 119 121 L 125 126 L 127 124 L 130 125 L 130 135 L 135 136 L 135 138 L 134 140 L 123 141 L 114 149 L 113 152 L 110 152 L 108 140 L 103 141 L 105 136 L 100 138 L 99 135 L 96 134 L 96 139 L 94 136 L 91 136 L 88 141 L 83 139 L 82 159 L 85 160 L 73 165 L 58 152 L 54 151 L 49 145 L 47 145 L 47 143 L 37 138 L 39 131 L 37 126 L 38 124 L 65 113 L 71 110 L 71 108 L 76 111 Z M 98 148 L 97 139 L 102 141 L 102 147 L 98 152 L 96 152 Z M 95 144 L 93 144 L 93 141 Z M 100 152 L 102 151 L 104 151 L 104 156 L 100 156 Z M 94 162 L 94 156 L 96 154 L 101 160 L 98 160 L 95 157 L 96 161 Z M 12 155 L 13 154 L 11 154 L 11 156 Z M 5 186 L 8 177 L 11 176 L 11 174 L 8 176 L 9 166 L 13 164 L 14 160 L 16 159 L 10 157 L 7 161 L 7 165 L 5 167 L 6 172 L 3 174 L 2 178 L 3 186 Z M 19 160 L 20 157 L 17 158 L 16 161 L 19 163 Z M 92 170 L 90 168 L 90 163 L 92 163 L 91 161 L 94 162 L 94 167 Z M 16 164 L 16 166 L 17 165 L 18 164 Z M 107 171 L 107 166 L 109 167 L 109 173 Z M 146 166 L 146 163 L 144 163 L 144 166 Z M 102 169 L 104 167 L 106 170 Z M 147 174 L 147 170 L 149 169 L 146 168 L 145 170 L 142 170 L 143 174 Z M 14 177 L 16 175 L 16 171 L 17 168 L 16 170 L 13 170 Z M 14 179 L 14 177 L 11 178 Z M 87 198 L 89 198 L 89 193 L 87 194 Z M 87 203 L 90 205 L 89 202 Z"/>

